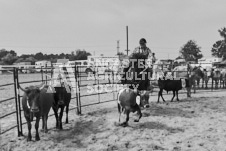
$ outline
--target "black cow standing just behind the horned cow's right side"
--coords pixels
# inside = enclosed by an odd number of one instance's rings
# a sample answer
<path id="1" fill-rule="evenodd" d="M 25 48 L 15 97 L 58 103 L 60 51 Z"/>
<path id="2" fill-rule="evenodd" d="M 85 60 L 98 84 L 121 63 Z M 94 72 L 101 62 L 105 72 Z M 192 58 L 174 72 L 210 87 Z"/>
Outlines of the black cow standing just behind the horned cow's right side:
<path id="1" fill-rule="evenodd" d="M 66 86 L 66 87 L 65 87 Z M 59 87 L 54 87 L 54 104 L 53 104 L 53 111 L 56 118 L 56 128 L 63 129 L 62 127 L 62 117 L 64 108 L 66 107 L 66 123 L 68 123 L 68 111 L 69 111 L 69 104 L 71 101 L 71 88 L 69 85 L 64 85 L 63 83 Z M 69 92 L 68 92 L 69 91 Z M 58 109 L 60 110 L 60 114 L 58 116 Z"/>

